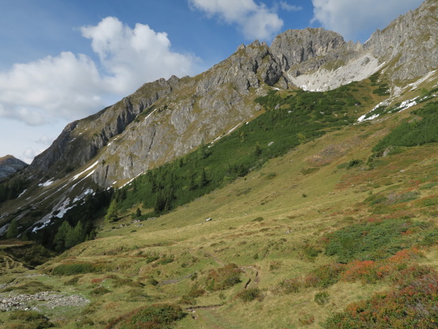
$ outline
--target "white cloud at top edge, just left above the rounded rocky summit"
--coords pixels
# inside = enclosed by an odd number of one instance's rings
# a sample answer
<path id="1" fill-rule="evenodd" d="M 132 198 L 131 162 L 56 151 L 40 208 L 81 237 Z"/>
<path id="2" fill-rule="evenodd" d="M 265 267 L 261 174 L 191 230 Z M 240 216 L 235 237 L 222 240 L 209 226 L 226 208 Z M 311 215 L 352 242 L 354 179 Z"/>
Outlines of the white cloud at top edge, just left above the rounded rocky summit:
<path id="1" fill-rule="evenodd" d="M 217 15 L 226 23 L 237 24 L 250 40 L 268 40 L 283 26 L 276 12 L 253 0 L 189 0 L 189 3 L 209 17 Z"/>

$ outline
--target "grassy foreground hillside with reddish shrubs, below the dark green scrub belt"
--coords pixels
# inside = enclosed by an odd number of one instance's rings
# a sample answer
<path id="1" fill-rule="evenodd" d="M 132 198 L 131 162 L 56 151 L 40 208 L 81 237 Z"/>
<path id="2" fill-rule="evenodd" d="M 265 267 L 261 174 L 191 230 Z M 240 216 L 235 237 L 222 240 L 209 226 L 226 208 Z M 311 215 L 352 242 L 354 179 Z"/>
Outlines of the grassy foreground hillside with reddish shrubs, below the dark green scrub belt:
<path id="1" fill-rule="evenodd" d="M 62 328 L 135 328 L 122 324 L 157 307 L 172 314 L 172 328 L 344 328 L 350 318 L 372 328 L 351 310 L 368 312 L 374 293 L 393 291 L 385 305 L 397 308 L 385 321 L 406 319 L 421 303 L 424 312 L 406 321 L 435 328 L 437 139 L 382 145 L 408 122 L 436 122 L 436 108 L 430 98 L 328 131 L 166 215 L 139 221 L 136 205 L 114 222 L 98 221 L 93 241 L 36 271 L 4 274 L 3 296 L 30 294 L 20 307 L 36 307 Z M 131 193 L 132 186 L 127 199 Z M 421 299 L 400 295 L 408 288 Z M 47 302 L 38 291 L 60 292 Z M 151 304 L 158 306 L 144 308 Z M 24 319 L 10 314 L 14 320 L 1 313 L 3 323 Z"/>

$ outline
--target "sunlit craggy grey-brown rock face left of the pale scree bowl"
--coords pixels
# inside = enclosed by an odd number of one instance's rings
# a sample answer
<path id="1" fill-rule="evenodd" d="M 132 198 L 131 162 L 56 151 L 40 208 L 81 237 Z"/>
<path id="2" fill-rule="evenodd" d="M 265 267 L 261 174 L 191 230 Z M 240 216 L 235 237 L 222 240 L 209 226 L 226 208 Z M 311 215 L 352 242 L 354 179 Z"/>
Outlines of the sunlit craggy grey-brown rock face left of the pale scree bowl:
<path id="1" fill-rule="evenodd" d="M 283 78 L 283 80 L 281 80 Z M 281 82 L 283 72 L 266 43 L 241 46 L 227 60 L 154 104 L 150 114 L 108 145 L 92 178 L 101 186 L 127 180 L 168 162 L 248 121 L 259 110 L 248 102 L 262 86 Z M 261 94 L 260 94 L 261 95 Z"/>

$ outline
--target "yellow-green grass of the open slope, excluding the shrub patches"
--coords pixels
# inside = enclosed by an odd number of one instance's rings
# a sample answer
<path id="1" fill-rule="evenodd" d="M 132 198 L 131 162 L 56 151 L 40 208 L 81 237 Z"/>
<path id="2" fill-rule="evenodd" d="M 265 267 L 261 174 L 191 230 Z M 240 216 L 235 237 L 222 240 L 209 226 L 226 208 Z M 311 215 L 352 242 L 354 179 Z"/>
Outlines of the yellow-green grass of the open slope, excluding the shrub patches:
<path id="1" fill-rule="evenodd" d="M 387 195 L 388 188 L 393 193 L 414 189 L 420 193 L 420 199 L 436 196 L 438 186 L 430 184 L 438 181 L 436 144 L 411 147 L 379 158 L 370 171 L 365 165 L 345 168 L 346 162 L 352 159 L 366 161 L 372 147 L 408 115 L 403 112 L 387 116 L 383 121 L 352 125 L 326 134 L 268 161 L 259 171 L 225 188 L 155 220 L 142 222 L 144 226 L 136 227 L 128 219 L 105 224 L 99 239 L 82 243 L 39 269 L 49 271 L 60 263 L 78 261 L 106 267 L 103 273 L 81 275 L 74 286 L 64 286 L 73 276 L 29 279 L 25 271 L 18 279 L 21 282 L 38 280 L 53 289 L 78 293 L 93 301 L 79 311 L 47 310 L 49 317 L 55 322 L 58 319 L 62 328 L 77 328 L 75 319 L 83 317 L 92 319 L 94 328 L 103 328 L 109 315 L 123 315 L 151 302 L 178 302 L 194 282 L 202 287 L 210 269 L 236 263 L 244 271 L 240 284 L 196 299 L 199 306 L 224 305 L 196 309 L 196 313 L 191 313 L 196 320 L 188 315 L 178 321 L 175 328 L 320 328 L 333 312 L 389 287 L 387 282 L 338 282 L 325 289 L 330 299 L 324 306 L 313 300 L 315 293 L 320 292 L 318 288 L 303 288 L 289 295 L 274 294 L 271 288 L 282 280 L 305 276 L 316 267 L 335 261 L 334 257 L 324 254 L 308 259 L 305 245 L 322 247 L 324 234 L 361 219 L 384 216 L 388 211 L 413 212 L 415 220 L 438 221 L 436 210 L 422 206 L 417 200 L 399 204 L 394 209 L 388 206 L 391 209 L 383 209 L 383 214 L 376 214 L 375 208 L 364 202 L 370 195 Z M 316 169 L 307 170 L 311 168 Z M 205 222 L 208 217 L 213 220 Z M 257 217 L 263 220 L 253 221 Z M 127 226 L 118 227 L 123 224 Z M 167 265 L 159 265 L 157 261 L 148 263 L 147 257 L 154 253 L 160 258 L 173 256 L 175 260 Z M 419 262 L 438 269 L 437 254 L 437 247 L 430 247 Z M 194 272 L 197 272 L 197 280 L 187 278 Z M 101 284 L 111 292 L 91 295 L 90 291 L 97 287 L 91 280 L 108 274 L 145 285 L 130 287 L 125 282 L 115 287 L 116 280 L 107 278 Z M 153 286 L 150 278 L 164 284 Z M 243 303 L 235 298 L 249 278 L 248 287 L 267 289 L 262 301 Z M 10 279 L 12 274 L 5 274 L 0 283 Z M 175 282 L 177 280 L 181 281 Z M 139 295 L 139 291 L 143 295 Z M 313 323 L 305 324 L 312 322 L 311 317 L 314 317 Z M 0 319 L 8 323 L 6 313 L 0 313 Z"/>

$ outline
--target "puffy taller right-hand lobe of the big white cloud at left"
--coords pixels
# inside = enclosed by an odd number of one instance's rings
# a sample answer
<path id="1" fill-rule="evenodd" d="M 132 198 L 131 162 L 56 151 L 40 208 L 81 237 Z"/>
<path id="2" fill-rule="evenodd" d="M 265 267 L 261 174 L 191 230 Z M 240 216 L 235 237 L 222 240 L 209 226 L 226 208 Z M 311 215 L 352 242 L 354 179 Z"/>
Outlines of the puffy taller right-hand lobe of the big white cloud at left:
<path id="1" fill-rule="evenodd" d="M 149 25 L 136 24 L 131 29 L 115 17 L 107 17 L 96 26 L 82 27 L 81 32 L 92 40 L 92 49 L 108 74 L 107 87 L 116 93 L 130 92 L 159 77 L 188 75 L 197 60 L 173 52 L 167 34 L 155 32 Z"/>

